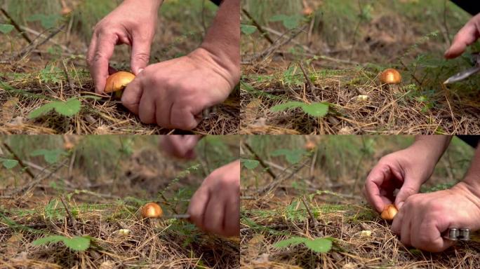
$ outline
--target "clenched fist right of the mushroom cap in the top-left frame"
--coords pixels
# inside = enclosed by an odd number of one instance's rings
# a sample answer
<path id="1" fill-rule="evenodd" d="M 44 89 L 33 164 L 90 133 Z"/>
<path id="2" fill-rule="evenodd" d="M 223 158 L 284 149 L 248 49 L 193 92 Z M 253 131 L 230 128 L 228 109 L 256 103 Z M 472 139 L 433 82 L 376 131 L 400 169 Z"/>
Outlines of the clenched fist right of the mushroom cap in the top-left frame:
<path id="1" fill-rule="evenodd" d="M 227 99 L 237 74 L 215 55 L 197 48 L 187 56 L 149 65 L 124 90 L 121 102 L 142 123 L 192 130 L 204 109 Z"/>

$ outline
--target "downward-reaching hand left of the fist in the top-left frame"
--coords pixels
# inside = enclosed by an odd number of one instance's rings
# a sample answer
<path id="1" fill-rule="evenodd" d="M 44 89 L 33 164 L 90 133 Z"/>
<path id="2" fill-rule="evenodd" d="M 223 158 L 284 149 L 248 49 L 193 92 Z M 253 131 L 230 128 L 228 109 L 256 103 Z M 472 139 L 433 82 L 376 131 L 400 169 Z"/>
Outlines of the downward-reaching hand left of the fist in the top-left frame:
<path id="1" fill-rule="evenodd" d="M 133 74 L 147 67 L 150 46 L 155 34 L 157 12 L 163 0 L 125 0 L 95 26 L 87 53 L 87 64 L 95 83 L 95 92 L 101 94 L 112 69 L 109 60 L 116 45 L 131 46 Z"/>

